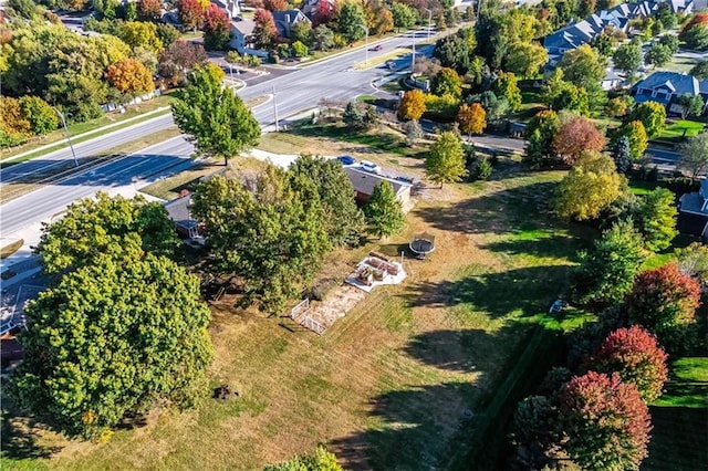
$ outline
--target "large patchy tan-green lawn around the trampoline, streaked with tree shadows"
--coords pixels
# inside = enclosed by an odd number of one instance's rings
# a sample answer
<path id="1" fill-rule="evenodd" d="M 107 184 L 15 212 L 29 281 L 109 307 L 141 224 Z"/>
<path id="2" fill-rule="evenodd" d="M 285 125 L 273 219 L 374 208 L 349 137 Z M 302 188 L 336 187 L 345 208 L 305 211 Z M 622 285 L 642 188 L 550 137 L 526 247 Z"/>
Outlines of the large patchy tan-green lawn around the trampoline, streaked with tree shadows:
<path id="1" fill-rule="evenodd" d="M 322 145 L 299 140 L 288 154 L 305 143 Z M 418 156 L 356 146 L 421 172 Z M 211 304 L 211 384 L 230 384 L 238 399 L 156 410 L 102 444 L 4 411 L 2 469 L 259 469 L 319 442 L 347 469 L 488 469 L 506 441 L 497 429 L 539 380 L 554 333 L 583 316 L 544 314 L 590 236 L 548 214 L 562 176 L 502 159 L 490 181 L 425 189 L 405 233 L 336 251 L 327 265 L 345 274 L 369 250 L 397 255 L 420 231 L 436 236 L 436 251 L 407 260 L 402 285 L 376 289 L 323 336 L 236 308 L 229 295 Z"/>

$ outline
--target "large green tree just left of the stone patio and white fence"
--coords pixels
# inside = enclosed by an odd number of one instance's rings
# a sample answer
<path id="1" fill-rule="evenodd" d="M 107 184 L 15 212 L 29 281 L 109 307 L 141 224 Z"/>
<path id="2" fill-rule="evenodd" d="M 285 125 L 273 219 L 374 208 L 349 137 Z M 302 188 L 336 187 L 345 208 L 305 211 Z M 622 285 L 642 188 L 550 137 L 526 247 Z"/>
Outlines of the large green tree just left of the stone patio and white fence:
<path id="1" fill-rule="evenodd" d="M 214 177 L 192 196 L 218 275 L 242 282 L 244 301 L 280 312 L 312 280 L 330 249 L 317 189 L 301 175 L 268 167 L 253 185 Z"/>

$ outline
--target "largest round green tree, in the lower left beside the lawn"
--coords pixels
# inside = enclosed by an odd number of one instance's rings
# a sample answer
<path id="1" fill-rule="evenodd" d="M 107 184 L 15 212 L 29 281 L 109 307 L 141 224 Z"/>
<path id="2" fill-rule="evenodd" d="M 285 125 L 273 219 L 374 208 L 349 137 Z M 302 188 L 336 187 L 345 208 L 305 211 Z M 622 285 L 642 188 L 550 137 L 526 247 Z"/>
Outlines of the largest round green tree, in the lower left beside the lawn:
<path id="1" fill-rule="evenodd" d="M 101 253 L 25 313 L 10 390 L 60 431 L 98 438 L 126 414 L 204 395 L 209 308 L 198 279 L 164 257 Z"/>

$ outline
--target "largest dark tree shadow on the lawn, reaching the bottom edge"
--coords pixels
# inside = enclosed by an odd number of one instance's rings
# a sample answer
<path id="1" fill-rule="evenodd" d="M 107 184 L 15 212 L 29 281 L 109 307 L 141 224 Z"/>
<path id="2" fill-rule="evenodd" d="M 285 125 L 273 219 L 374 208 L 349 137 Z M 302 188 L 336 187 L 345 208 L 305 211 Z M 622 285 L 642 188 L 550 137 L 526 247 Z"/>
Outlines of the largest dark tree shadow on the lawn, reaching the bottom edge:
<path id="1" fill-rule="evenodd" d="M 493 333 L 447 329 L 414 337 L 404 347 L 407 355 L 447 371 L 473 373 L 475 379 L 382 393 L 368 402 L 366 429 L 333 440 L 331 450 L 353 470 L 479 468 L 472 461 L 488 452 L 483 460 L 493 465 L 516 404 L 539 376 L 533 370 L 527 377 L 533 368 L 517 366 L 520 357 L 539 365 L 525 355 L 533 332 L 510 323 Z"/>

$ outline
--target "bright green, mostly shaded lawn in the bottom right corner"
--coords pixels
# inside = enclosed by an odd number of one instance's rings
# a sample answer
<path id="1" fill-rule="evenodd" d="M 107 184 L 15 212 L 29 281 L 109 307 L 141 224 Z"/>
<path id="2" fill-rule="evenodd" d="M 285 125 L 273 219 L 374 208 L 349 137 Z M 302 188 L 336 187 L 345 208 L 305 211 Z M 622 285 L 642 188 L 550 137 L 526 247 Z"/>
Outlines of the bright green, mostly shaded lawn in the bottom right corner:
<path id="1" fill-rule="evenodd" d="M 671 363 L 666 394 L 652 405 L 646 470 L 705 470 L 708 463 L 708 358 Z"/>

